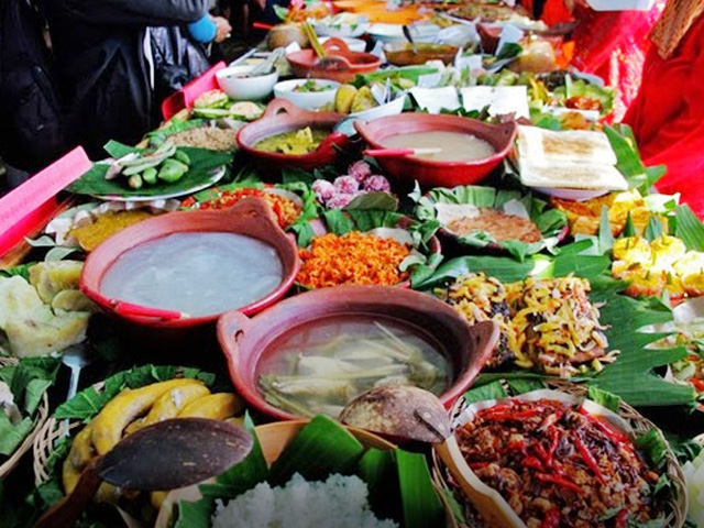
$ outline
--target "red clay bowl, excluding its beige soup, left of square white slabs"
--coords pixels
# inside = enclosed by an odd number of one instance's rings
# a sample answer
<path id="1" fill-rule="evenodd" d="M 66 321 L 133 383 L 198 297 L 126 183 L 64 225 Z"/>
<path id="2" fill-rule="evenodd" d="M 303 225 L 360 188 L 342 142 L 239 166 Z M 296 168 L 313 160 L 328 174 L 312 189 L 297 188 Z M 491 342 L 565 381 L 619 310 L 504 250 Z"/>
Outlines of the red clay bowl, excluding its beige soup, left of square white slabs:
<path id="1" fill-rule="evenodd" d="M 393 135 L 447 131 L 472 134 L 488 142 L 496 151 L 490 157 L 471 162 L 444 162 L 416 156 L 380 157 L 378 163 L 384 170 L 404 187 L 411 187 L 414 180 L 427 187 L 455 187 L 481 182 L 508 155 L 516 136 L 516 122 L 513 120 L 488 124 L 460 116 L 417 112 L 389 116 L 367 123 L 356 121 L 354 128 L 372 148 L 384 148 L 384 140 Z"/>

